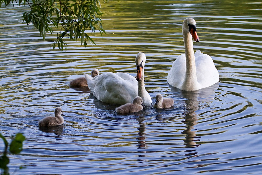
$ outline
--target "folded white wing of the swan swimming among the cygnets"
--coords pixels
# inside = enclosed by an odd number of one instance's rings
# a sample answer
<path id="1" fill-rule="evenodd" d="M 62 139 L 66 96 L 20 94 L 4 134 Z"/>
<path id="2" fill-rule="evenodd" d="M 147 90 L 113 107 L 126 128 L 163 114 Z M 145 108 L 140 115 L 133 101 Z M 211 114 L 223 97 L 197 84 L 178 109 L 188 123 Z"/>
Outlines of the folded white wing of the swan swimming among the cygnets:
<path id="1" fill-rule="evenodd" d="M 132 76 L 131 76 L 132 77 Z M 112 72 L 96 76 L 95 96 L 98 100 L 105 103 L 125 104 L 132 103 L 133 99 L 138 96 L 137 82 L 125 80 Z"/>

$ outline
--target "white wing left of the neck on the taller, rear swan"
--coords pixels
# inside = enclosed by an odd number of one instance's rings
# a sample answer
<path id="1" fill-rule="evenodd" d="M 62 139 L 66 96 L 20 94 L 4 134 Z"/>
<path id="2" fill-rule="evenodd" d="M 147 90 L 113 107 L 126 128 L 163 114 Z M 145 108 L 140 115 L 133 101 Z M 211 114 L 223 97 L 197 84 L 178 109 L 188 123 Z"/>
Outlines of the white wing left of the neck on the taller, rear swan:
<path id="1" fill-rule="evenodd" d="M 185 78 L 185 54 L 181 54 L 173 62 L 167 75 L 167 82 L 174 87 L 181 88 Z"/>

